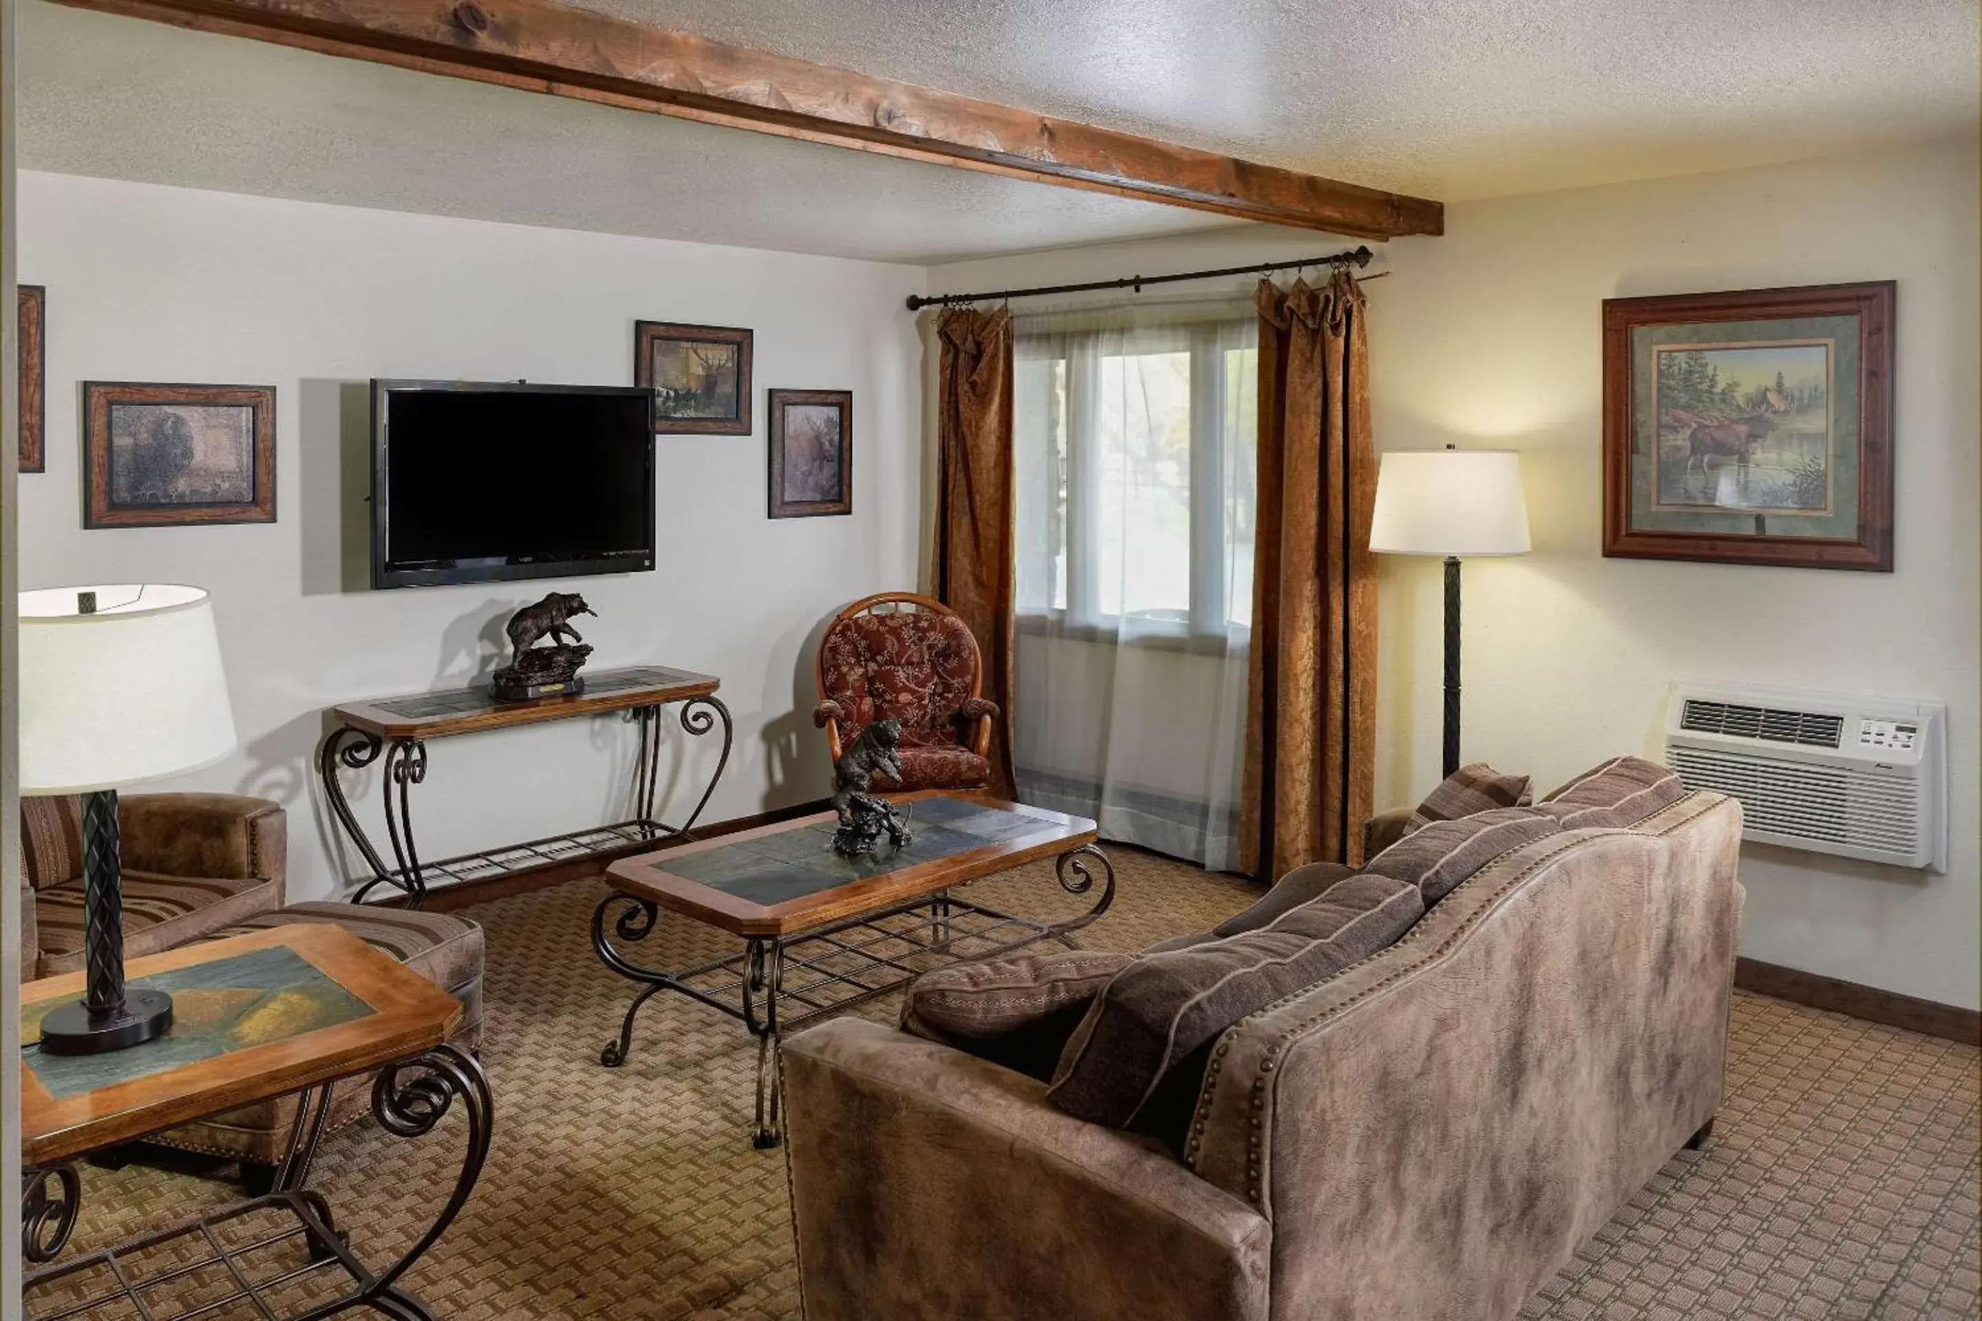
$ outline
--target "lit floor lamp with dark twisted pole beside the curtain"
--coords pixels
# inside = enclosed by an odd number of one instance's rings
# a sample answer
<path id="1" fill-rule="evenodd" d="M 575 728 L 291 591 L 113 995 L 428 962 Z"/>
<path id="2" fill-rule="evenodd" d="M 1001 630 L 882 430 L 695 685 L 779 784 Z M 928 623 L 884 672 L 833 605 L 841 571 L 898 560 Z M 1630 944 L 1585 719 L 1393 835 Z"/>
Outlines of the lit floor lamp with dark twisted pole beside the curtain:
<path id="1" fill-rule="evenodd" d="M 1528 553 L 1512 450 L 1391 450 L 1376 475 L 1370 549 L 1445 557 L 1445 774 L 1459 770 L 1459 560 Z"/>

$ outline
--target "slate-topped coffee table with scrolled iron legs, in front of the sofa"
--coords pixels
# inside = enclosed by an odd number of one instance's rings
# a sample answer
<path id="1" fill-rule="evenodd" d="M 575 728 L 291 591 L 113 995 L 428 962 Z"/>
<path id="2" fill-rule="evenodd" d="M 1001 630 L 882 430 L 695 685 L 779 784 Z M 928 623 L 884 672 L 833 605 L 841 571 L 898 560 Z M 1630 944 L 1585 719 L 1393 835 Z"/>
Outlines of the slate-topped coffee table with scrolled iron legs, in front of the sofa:
<path id="1" fill-rule="evenodd" d="M 890 802 L 906 808 L 914 840 L 874 858 L 834 854 L 836 818 L 819 812 L 612 864 L 612 893 L 593 911 L 593 949 L 642 990 L 599 1062 L 626 1062 L 634 1016 L 662 990 L 739 1018 L 757 1038 L 751 1141 L 777 1147 L 777 1050 L 785 1030 L 872 1000 L 945 963 L 1039 941 L 1072 947 L 1072 933 L 1114 903 L 1114 865 L 1086 818 L 939 790 L 890 794 Z M 1098 873 L 1094 905 L 1078 917 L 1039 921 L 951 893 L 1041 858 L 1056 858 L 1054 875 L 1074 895 L 1090 893 Z M 644 941 L 660 909 L 741 937 L 741 953 L 680 970 L 634 961 L 622 945 Z"/>

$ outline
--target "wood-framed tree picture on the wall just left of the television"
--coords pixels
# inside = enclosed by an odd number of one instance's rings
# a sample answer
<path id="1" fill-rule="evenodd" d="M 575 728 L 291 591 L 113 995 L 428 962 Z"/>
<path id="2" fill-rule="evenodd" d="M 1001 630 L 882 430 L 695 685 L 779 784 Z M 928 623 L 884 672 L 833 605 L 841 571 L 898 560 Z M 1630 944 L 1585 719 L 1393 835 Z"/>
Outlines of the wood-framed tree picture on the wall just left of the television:
<path id="1" fill-rule="evenodd" d="M 83 527 L 275 521 L 275 386 L 83 382 Z"/>

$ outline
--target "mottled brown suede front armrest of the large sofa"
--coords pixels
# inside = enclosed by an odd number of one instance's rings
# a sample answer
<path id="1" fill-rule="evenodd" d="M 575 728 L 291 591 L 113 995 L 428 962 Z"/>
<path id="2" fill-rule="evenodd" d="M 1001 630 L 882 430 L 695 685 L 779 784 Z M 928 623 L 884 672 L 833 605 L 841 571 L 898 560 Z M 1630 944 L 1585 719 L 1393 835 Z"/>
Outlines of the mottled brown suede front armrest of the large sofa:
<path id="1" fill-rule="evenodd" d="M 783 1069 L 811 1321 L 1266 1317 L 1266 1220 L 1043 1083 L 860 1020 Z"/>

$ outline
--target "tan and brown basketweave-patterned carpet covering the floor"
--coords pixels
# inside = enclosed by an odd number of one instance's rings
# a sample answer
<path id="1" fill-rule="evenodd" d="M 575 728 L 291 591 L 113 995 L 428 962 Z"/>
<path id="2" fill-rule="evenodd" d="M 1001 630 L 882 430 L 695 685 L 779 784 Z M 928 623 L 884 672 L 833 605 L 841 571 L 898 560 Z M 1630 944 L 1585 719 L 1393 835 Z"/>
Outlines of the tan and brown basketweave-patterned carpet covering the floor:
<path id="1" fill-rule="evenodd" d="M 1253 893 L 1161 858 L 1114 856 L 1120 897 L 1084 933 L 1094 947 L 1209 927 Z M 1084 907 L 1046 865 L 975 889 L 1027 913 Z M 591 953 L 603 893 L 579 881 L 470 911 L 490 937 L 496 1151 L 406 1283 L 460 1321 L 791 1317 L 785 1161 L 751 1151 L 747 1133 L 755 1050 L 739 1024 L 660 996 L 626 1066 L 599 1066 L 630 998 Z M 670 917 L 646 945 L 666 963 L 725 953 Z M 894 1000 L 854 1012 L 892 1018 Z M 1714 1147 L 1675 1157 L 1524 1317 L 1978 1315 L 1974 1048 L 1742 994 L 1728 1069 Z M 315 1182 L 361 1256 L 390 1254 L 426 1224 L 460 1133 L 458 1117 L 424 1141 L 365 1123 L 325 1143 Z M 145 1165 L 85 1169 L 83 1184 L 71 1252 L 230 1196 L 216 1178 Z"/>

